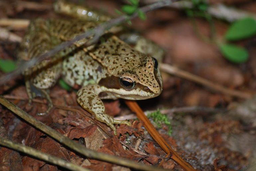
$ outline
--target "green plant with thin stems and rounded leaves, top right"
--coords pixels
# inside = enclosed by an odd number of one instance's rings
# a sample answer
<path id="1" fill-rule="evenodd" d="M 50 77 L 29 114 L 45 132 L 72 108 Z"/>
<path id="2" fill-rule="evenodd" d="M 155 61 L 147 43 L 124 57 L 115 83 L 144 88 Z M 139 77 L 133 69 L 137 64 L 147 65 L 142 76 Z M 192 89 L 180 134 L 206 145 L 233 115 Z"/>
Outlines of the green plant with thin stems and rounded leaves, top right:
<path id="1" fill-rule="evenodd" d="M 233 63 L 244 63 L 248 60 L 248 52 L 245 48 L 233 45 L 229 41 L 237 41 L 251 37 L 256 34 L 256 21 L 253 18 L 243 18 L 232 23 L 220 42 L 217 42 L 215 36 L 215 26 L 212 17 L 207 13 L 208 4 L 205 0 L 192 0 L 193 8 L 186 9 L 187 15 L 191 18 L 196 33 L 203 40 L 215 43 L 222 55 Z M 211 28 L 211 38 L 201 35 L 198 31 L 194 17 L 205 18 Z"/>

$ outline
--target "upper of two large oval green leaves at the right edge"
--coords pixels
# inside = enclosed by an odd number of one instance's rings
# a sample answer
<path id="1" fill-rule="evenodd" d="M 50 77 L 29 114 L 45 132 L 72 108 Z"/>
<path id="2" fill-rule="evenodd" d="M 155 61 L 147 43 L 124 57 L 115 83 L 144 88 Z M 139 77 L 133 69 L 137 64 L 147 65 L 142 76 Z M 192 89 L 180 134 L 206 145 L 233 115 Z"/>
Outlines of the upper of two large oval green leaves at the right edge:
<path id="1" fill-rule="evenodd" d="M 227 40 L 239 40 L 256 33 L 256 21 L 253 18 L 243 18 L 234 22 L 225 34 Z"/>

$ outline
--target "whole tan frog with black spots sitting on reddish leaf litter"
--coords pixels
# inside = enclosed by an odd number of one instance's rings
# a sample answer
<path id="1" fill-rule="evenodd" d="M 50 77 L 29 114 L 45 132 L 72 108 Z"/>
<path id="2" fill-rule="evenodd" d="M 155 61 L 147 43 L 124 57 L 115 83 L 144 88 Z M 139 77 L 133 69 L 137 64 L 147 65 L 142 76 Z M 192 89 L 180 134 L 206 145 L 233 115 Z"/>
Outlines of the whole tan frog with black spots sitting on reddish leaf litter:
<path id="1" fill-rule="evenodd" d="M 19 59 L 30 60 L 60 43 L 97 26 L 97 22 L 78 19 L 37 19 L 32 21 L 21 43 Z M 101 99 L 148 99 L 162 91 L 162 78 L 157 60 L 134 50 L 112 33 L 104 34 L 98 43 L 83 44 L 87 37 L 44 60 L 23 73 L 30 103 L 35 96 L 48 99 L 49 112 L 53 107 L 47 90 L 59 78 L 77 91 L 78 103 L 92 116 L 109 125 L 128 121 L 113 119 L 105 112 Z"/>

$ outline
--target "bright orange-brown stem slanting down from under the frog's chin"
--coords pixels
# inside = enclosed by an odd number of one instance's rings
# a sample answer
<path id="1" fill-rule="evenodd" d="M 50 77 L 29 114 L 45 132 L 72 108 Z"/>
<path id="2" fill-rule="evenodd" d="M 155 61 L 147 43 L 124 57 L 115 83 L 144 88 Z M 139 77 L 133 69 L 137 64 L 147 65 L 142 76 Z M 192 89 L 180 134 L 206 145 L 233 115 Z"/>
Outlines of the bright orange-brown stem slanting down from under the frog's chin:
<path id="1" fill-rule="evenodd" d="M 182 166 L 185 170 L 194 170 L 195 169 L 186 162 L 179 154 L 172 149 L 172 147 L 163 139 L 162 136 L 157 132 L 155 127 L 151 124 L 149 119 L 146 117 L 140 106 L 137 102 L 133 100 L 125 100 L 127 106 L 136 113 L 139 120 L 143 123 L 146 130 L 149 132 L 151 137 L 160 145 L 160 147 L 167 153 L 167 156 L 171 156 L 171 158 L 177 162 L 180 166 Z"/>

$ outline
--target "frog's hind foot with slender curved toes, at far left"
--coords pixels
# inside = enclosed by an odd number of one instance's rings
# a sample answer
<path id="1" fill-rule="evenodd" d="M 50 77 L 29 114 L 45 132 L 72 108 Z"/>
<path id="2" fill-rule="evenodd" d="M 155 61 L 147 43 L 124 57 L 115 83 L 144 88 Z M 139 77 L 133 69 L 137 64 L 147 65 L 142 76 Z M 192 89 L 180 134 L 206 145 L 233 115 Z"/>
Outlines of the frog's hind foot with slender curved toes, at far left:
<path id="1" fill-rule="evenodd" d="M 37 113 L 37 115 L 38 116 L 44 116 L 44 115 L 48 114 L 51 111 L 51 109 L 53 108 L 53 102 L 52 102 L 51 97 L 50 97 L 49 93 L 47 92 L 47 90 L 35 87 L 30 81 L 26 81 L 26 89 L 27 89 L 27 93 L 28 93 L 28 96 L 29 96 L 28 105 L 29 106 L 32 105 L 32 100 L 35 97 L 46 98 L 47 103 L 48 103 L 47 110 L 45 112 L 42 112 L 42 113 Z"/>

